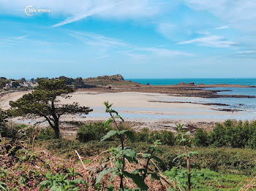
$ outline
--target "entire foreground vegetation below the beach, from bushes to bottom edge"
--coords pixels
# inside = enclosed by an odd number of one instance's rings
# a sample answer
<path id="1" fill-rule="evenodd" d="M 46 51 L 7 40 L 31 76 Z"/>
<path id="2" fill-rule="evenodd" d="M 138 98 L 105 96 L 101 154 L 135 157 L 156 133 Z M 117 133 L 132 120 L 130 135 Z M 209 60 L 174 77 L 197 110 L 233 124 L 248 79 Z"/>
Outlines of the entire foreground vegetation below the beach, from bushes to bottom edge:
<path id="1" fill-rule="evenodd" d="M 41 101 L 50 101 L 55 89 L 49 92 Z M 47 106 L 41 101 L 31 107 Z M 227 120 L 195 136 L 182 125 L 175 134 L 134 131 L 110 104 L 105 106 L 110 119 L 81 125 L 77 140 L 55 139 L 52 127 L 7 125 L 7 114 L 19 114 L 21 106 L 0 111 L 0 190 L 255 189 L 255 122 Z M 21 111 L 26 109 L 31 108 Z"/>

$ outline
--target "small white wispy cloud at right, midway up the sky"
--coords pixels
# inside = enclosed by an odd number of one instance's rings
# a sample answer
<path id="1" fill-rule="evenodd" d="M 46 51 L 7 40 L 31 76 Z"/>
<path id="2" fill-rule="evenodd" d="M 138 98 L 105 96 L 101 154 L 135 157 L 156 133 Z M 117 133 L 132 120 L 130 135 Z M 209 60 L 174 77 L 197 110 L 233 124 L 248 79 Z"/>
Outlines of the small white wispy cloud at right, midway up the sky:
<path id="1" fill-rule="evenodd" d="M 179 42 L 178 44 L 198 44 L 205 47 L 232 47 L 236 42 L 227 41 L 223 36 L 211 35 Z"/>

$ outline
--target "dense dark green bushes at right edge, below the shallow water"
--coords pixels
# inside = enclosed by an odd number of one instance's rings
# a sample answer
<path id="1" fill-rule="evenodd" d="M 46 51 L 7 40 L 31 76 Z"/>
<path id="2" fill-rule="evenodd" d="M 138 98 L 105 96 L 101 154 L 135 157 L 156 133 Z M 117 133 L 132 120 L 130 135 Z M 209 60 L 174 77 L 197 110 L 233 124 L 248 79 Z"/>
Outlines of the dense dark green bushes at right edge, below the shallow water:
<path id="1" fill-rule="evenodd" d="M 198 129 L 193 144 L 197 147 L 233 147 L 256 149 L 256 121 L 226 120 L 210 132 Z"/>

